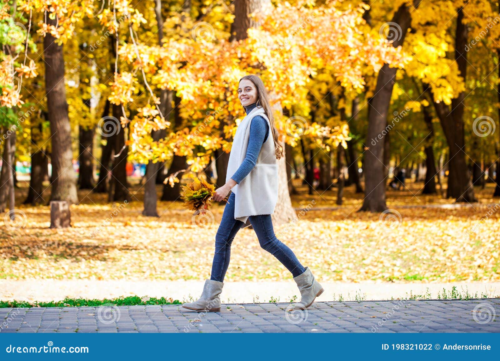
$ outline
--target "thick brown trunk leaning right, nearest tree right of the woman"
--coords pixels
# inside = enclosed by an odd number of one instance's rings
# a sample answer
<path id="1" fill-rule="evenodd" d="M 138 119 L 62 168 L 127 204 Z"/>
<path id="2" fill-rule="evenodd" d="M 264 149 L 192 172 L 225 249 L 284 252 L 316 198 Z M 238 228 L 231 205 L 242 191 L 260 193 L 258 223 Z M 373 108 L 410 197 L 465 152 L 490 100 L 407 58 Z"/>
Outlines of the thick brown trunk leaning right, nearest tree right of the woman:
<path id="1" fill-rule="evenodd" d="M 414 0 L 416 8 L 420 0 Z M 392 42 L 394 47 L 402 45 L 406 31 L 411 23 L 411 14 L 407 3 L 401 4 L 392 23 L 398 24 L 397 37 Z M 401 30 L 399 33 L 399 29 Z M 395 83 L 396 68 L 384 64 L 377 75 L 376 88 L 368 103 L 368 134 L 364 162 L 365 197 L 360 211 L 382 212 L 387 209 L 385 204 L 385 170 L 384 170 L 384 137 L 383 131 L 387 124 L 392 88 Z M 380 139 L 379 137 L 382 137 Z"/>

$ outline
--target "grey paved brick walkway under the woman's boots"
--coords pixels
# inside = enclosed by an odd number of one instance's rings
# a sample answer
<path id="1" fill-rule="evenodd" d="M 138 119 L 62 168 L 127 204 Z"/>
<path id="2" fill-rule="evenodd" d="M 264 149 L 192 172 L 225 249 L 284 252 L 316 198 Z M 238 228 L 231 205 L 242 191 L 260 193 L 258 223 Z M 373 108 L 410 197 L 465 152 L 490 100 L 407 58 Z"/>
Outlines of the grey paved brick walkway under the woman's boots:
<path id="1" fill-rule="evenodd" d="M 223 304 L 197 313 L 180 305 L 0 309 L 0 333 L 500 332 L 500 299 Z"/>

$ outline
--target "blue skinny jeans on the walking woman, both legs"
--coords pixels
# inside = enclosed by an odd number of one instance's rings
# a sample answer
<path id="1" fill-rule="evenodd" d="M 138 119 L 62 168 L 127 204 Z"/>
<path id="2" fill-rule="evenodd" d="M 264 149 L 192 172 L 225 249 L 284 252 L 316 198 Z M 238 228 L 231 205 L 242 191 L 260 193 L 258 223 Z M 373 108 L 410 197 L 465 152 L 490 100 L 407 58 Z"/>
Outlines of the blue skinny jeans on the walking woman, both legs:
<path id="1" fill-rule="evenodd" d="M 249 216 L 248 219 L 257 235 L 260 247 L 276 257 L 291 272 L 293 277 L 301 275 L 305 271 L 294 253 L 274 235 L 270 214 Z M 223 282 L 229 266 L 231 243 L 243 226 L 243 222 L 234 219 L 234 193 L 231 193 L 228 203 L 224 206 L 222 221 L 215 235 L 215 253 L 210 280 Z"/>

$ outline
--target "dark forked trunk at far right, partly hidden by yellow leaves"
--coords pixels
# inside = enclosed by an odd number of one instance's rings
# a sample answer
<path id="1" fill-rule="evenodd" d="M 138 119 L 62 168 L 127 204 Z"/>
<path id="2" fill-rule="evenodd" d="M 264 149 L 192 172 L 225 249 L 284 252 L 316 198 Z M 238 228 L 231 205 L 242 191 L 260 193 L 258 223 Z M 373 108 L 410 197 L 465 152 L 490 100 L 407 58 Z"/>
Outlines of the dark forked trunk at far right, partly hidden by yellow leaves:
<path id="1" fill-rule="evenodd" d="M 455 61 L 458 65 L 460 75 L 465 79 L 467 69 L 467 52 L 465 51 L 467 27 L 463 24 L 462 19 L 463 10 L 460 7 L 456 19 Z M 462 91 L 458 97 L 451 100 L 451 108 L 442 102 L 436 103 L 433 100 L 433 96 L 430 98 L 436 109 L 449 147 L 449 173 L 446 198 L 455 198 L 456 202 L 477 202 L 464 153 L 463 100 L 465 99 L 465 92 Z"/>

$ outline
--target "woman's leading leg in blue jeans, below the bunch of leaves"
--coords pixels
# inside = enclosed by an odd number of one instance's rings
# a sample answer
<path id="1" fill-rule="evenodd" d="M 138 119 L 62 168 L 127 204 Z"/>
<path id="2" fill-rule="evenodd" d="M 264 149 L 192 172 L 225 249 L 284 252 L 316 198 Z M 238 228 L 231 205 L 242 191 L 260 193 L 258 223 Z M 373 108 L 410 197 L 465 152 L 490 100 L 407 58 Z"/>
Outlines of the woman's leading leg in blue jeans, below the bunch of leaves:
<path id="1" fill-rule="evenodd" d="M 215 253 L 213 255 L 212 272 L 210 280 L 223 282 L 229 259 L 231 257 L 231 243 L 236 233 L 244 225 L 243 222 L 234 219 L 234 193 L 231 193 L 227 201 L 222 221 L 215 235 Z"/>

